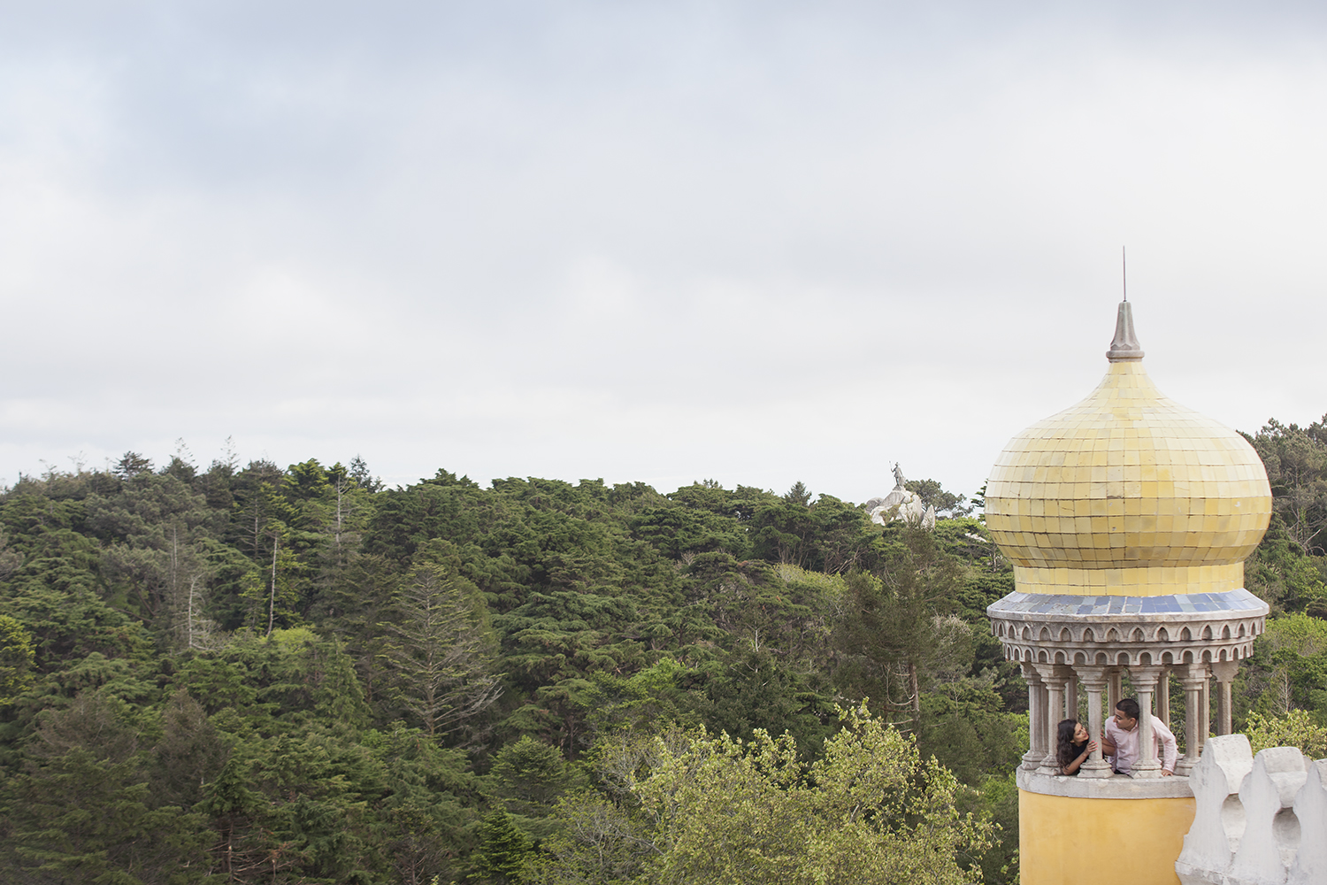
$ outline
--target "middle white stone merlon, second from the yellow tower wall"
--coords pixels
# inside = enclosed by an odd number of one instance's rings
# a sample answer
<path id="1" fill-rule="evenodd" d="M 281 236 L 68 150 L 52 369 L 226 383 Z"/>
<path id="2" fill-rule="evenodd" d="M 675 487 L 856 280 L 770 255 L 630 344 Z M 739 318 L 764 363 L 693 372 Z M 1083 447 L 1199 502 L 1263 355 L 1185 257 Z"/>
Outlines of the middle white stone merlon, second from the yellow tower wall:
<path id="1" fill-rule="evenodd" d="M 1304 755 L 1298 747 L 1270 747 L 1254 756 L 1253 770 L 1239 785 L 1245 832 L 1230 864 L 1233 881 L 1258 885 L 1286 881 L 1298 844 L 1291 845 L 1282 837 L 1277 816 L 1294 804 L 1303 785 Z"/>

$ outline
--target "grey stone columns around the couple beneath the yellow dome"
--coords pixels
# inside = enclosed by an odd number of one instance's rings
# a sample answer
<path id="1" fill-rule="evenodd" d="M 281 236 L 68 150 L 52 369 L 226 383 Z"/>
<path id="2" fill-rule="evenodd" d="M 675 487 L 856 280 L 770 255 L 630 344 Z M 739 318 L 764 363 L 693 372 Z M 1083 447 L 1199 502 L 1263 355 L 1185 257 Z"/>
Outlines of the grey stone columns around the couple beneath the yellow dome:
<path id="1" fill-rule="evenodd" d="M 1100 739 L 1105 718 L 1113 715 L 1115 705 L 1123 697 L 1123 675 L 1129 681 L 1139 701 L 1139 759 L 1133 764 L 1133 778 L 1160 778 L 1161 760 L 1152 746 L 1152 713 L 1170 726 L 1169 675 L 1173 673 L 1184 685 L 1185 734 L 1184 758 L 1174 774 L 1188 775 L 1198 764 L 1202 743 L 1212 732 L 1212 678 L 1217 679 L 1217 734 L 1230 734 L 1230 683 L 1239 667 L 1238 661 L 1205 663 L 1105 666 L 1024 662 L 1023 679 L 1027 682 L 1028 751 L 1023 754 L 1023 768 L 1043 774 L 1060 774 L 1056 759 L 1056 728 L 1060 719 L 1079 718 L 1079 691 L 1087 691 L 1087 728 L 1093 739 Z M 1104 701 L 1104 705 L 1103 705 Z M 1079 770 L 1080 778 L 1109 778 L 1111 763 L 1101 756 L 1097 746 Z"/>

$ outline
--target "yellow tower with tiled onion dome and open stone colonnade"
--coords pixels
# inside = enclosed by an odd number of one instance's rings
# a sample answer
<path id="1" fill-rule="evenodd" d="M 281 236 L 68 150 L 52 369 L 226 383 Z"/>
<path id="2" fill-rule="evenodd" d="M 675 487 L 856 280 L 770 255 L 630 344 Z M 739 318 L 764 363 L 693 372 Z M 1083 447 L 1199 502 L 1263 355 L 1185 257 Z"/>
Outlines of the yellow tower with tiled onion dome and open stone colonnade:
<path id="1" fill-rule="evenodd" d="M 987 608 L 1028 686 L 1028 752 L 1018 772 L 1024 885 L 1127 869 L 1176 882 L 1193 820 L 1186 775 L 1218 690 L 1230 732 L 1230 682 L 1253 651 L 1267 605 L 1243 589 L 1243 561 L 1271 516 L 1262 460 L 1237 433 L 1162 395 L 1143 368 L 1121 303 L 1105 378 L 1076 406 L 1009 442 L 986 487 L 986 525 L 1014 567 L 1015 590 Z M 1076 778 L 1058 774 L 1055 728 L 1080 718 L 1101 734 L 1128 673 L 1139 706 L 1169 722 L 1169 677 L 1185 689 L 1184 759 L 1161 776 L 1140 716 L 1133 776 L 1097 750 Z M 1124 861 L 1127 866 L 1120 868 Z"/>

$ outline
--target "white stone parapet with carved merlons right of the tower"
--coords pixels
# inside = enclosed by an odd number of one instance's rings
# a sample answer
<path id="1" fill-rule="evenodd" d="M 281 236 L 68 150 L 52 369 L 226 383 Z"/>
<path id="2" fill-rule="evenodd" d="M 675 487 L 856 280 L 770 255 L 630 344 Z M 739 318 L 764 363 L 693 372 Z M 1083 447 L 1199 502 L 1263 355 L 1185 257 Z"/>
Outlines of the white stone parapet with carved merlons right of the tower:
<path id="1" fill-rule="evenodd" d="M 1184 885 L 1327 882 L 1327 759 L 1209 738 L 1189 787 L 1193 827 L 1174 864 Z"/>

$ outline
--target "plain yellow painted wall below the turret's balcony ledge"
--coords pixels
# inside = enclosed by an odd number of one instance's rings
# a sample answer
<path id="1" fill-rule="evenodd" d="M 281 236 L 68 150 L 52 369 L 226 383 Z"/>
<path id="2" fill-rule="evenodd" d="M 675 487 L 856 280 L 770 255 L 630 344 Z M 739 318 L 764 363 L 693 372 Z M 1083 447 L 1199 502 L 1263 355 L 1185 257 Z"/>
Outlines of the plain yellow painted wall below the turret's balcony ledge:
<path id="1" fill-rule="evenodd" d="M 1075 799 L 1018 791 L 1023 885 L 1119 878 L 1177 885 L 1174 861 L 1193 824 L 1193 799 Z"/>

